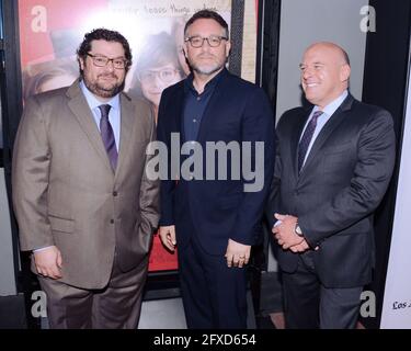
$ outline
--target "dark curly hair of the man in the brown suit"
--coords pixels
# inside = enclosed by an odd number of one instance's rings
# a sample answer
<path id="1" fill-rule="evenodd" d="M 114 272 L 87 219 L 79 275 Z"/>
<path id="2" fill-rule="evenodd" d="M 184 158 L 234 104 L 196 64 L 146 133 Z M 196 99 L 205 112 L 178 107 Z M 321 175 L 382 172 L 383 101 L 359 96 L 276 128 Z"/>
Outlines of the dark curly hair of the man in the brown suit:
<path id="1" fill-rule="evenodd" d="M 91 42 L 92 41 L 106 41 L 106 42 L 114 42 L 119 43 L 123 45 L 125 57 L 127 60 L 126 64 L 126 71 L 128 71 L 129 67 L 133 64 L 133 55 L 132 49 L 129 47 L 129 44 L 127 39 L 118 32 L 111 31 L 106 29 L 96 29 L 92 30 L 89 33 L 85 33 L 83 42 L 80 44 L 79 48 L 77 49 L 77 56 L 79 58 L 82 58 L 85 60 L 87 54 L 91 50 Z M 80 69 L 80 73 L 82 75 L 82 71 Z"/>

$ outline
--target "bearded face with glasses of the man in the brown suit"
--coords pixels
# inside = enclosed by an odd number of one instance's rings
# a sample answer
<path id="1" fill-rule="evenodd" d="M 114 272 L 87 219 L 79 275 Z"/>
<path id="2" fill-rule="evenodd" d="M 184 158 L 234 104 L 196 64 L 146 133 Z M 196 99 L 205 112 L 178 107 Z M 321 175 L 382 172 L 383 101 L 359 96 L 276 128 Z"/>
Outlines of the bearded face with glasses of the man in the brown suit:
<path id="1" fill-rule="evenodd" d="M 110 100 L 124 89 L 127 60 L 121 43 L 92 41 L 90 53 L 79 61 L 84 84 L 101 100 Z"/>

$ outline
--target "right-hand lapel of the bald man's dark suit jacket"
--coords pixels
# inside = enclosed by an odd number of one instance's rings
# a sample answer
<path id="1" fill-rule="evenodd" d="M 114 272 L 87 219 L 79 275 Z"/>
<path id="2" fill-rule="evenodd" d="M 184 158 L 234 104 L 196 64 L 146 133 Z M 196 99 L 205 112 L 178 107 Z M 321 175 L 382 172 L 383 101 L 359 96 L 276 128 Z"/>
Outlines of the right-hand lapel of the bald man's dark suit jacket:
<path id="1" fill-rule="evenodd" d="M 322 127 L 320 134 L 317 136 L 316 140 L 312 144 L 310 154 L 308 154 L 306 163 L 304 165 L 301 169 L 301 174 L 309 168 L 312 160 L 320 155 L 320 149 L 324 145 L 324 143 L 328 140 L 330 135 L 338 128 L 338 126 L 344 121 L 344 112 L 350 110 L 352 106 L 354 99 L 352 95 L 349 94 L 349 97 L 343 101 L 343 103 L 335 110 L 333 115 L 330 117 L 330 120 L 326 123 L 326 125 Z"/>

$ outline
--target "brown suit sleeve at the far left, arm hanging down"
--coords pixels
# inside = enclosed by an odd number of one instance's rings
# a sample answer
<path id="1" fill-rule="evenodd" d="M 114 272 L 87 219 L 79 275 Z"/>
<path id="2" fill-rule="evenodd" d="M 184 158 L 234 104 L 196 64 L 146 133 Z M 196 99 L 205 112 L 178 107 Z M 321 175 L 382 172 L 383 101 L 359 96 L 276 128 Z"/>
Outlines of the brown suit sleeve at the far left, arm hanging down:
<path id="1" fill-rule="evenodd" d="M 23 251 L 55 245 L 47 219 L 50 158 L 42 106 L 32 98 L 20 122 L 12 162 L 12 197 Z"/>

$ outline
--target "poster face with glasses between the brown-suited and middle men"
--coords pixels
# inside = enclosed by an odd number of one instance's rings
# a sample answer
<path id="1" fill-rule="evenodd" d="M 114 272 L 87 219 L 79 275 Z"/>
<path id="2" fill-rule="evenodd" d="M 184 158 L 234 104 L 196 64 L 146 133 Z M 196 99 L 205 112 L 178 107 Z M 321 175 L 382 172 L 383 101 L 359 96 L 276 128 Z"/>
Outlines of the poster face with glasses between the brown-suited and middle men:
<path id="1" fill-rule="evenodd" d="M 158 106 L 162 91 L 179 82 L 181 75 L 180 70 L 173 64 L 168 64 L 141 71 L 139 80 L 144 97 Z"/>

